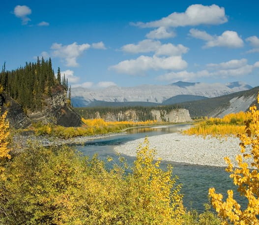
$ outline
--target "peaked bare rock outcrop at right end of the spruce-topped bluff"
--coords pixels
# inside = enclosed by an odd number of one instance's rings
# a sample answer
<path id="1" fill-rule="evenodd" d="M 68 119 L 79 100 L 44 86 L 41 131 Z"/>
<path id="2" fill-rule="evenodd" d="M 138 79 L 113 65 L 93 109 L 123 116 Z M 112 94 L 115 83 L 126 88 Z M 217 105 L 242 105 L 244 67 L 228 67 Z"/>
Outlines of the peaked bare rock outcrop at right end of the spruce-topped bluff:
<path id="1" fill-rule="evenodd" d="M 66 94 L 62 89 L 55 90 L 52 96 L 45 99 L 45 106 L 40 112 L 28 114 L 32 122 L 51 123 L 64 127 L 78 127 L 81 125 L 81 117 L 67 103 Z"/>

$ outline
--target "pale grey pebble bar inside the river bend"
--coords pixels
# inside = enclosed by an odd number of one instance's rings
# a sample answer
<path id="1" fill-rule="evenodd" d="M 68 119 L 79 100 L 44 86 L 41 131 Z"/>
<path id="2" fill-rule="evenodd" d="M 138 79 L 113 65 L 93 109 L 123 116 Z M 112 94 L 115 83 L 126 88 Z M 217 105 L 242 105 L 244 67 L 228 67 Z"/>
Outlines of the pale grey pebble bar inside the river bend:
<path id="1" fill-rule="evenodd" d="M 240 154 L 237 137 L 215 138 L 197 135 L 169 133 L 148 137 L 150 148 L 155 148 L 157 158 L 165 161 L 189 164 L 226 166 L 224 157 L 228 156 L 236 166 L 235 157 Z M 128 156 L 136 156 L 136 149 L 144 138 L 129 141 L 115 147 L 115 151 Z"/>

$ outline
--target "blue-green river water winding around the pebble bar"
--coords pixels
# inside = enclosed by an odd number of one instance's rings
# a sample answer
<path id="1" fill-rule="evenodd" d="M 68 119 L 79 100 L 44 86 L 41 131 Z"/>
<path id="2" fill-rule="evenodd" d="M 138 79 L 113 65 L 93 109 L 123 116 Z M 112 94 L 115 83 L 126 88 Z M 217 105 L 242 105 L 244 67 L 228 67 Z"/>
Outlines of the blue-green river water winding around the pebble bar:
<path id="1" fill-rule="evenodd" d="M 114 151 L 116 145 L 145 136 L 176 132 L 178 128 L 183 128 L 184 126 L 186 125 L 129 129 L 126 134 L 95 139 L 86 142 L 84 145 L 75 146 L 75 148 L 84 155 L 92 156 L 98 153 L 101 160 L 112 157 L 116 162 L 118 158 Z M 136 146 L 136 148 L 137 147 L 138 146 Z M 131 165 L 135 160 L 135 157 L 122 156 L 125 157 L 127 162 Z M 181 193 L 184 195 L 183 203 L 187 209 L 196 209 L 198 212 L 202 212 L 204 210 L 203 204 L 209 202 L 208 189 L 210 187 L 214 187 L 217 193 L 223 193 L 224 197 L 226 197 L 227 190 L 232 189 L 234 190 L 234 196 L 238 202 L 244 204 L 244 199 L 237 193 L 236 187 L 232 184 L 229 173 L 225 171 L 225 168 L 177 163 L 173 161 L 162 161 L 161 168 L 166 169 L 168 164 L 173 165 L 173 175 L 177 175 L 179 177 L 178 183 L 182 184 Z"/>

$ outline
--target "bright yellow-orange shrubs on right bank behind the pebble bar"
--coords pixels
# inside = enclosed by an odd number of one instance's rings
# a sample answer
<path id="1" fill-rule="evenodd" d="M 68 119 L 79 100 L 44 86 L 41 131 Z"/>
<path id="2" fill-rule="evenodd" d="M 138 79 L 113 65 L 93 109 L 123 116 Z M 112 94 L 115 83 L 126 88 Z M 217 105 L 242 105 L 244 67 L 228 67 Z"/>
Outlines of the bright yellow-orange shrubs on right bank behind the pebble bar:
<path id="1" fill-rule="evenodd" d="M 251 112 L 230 113 L 221 118 L 205 118 L 194 127 L 184 130 L 185 134 L 227 136 L 245 132 L 245 121 L 251 120 Z"/>

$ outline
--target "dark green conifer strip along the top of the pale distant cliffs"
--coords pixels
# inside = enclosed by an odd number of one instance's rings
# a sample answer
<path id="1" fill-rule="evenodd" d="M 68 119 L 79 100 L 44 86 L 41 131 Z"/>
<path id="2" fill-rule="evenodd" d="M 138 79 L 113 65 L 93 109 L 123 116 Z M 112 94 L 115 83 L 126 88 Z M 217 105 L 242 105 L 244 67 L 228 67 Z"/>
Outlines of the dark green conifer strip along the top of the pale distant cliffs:
<path id="1" fill-rule="evenodd" d="M 125 113 L 128 110 L 136 111 L 136 116 L 140 121 L 153 120 L 151 110 L 164 110 L 169 113 L 170 111 L 179 108 L 177 105 L 166 106 L 124 106 L 124 107 L 78 107 L 75 110 L 85 119 L 93 119 L 96 117 L 96 113 L 99 112 L 100 117 L 104 118 L 108 113 L 118 115 L 119 113 Z M 126 120 L 126 118 L 125 118 Z M 125 121 L 123 118 L 120 121 Z"/>

